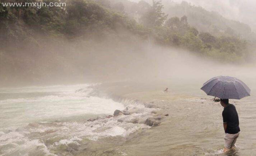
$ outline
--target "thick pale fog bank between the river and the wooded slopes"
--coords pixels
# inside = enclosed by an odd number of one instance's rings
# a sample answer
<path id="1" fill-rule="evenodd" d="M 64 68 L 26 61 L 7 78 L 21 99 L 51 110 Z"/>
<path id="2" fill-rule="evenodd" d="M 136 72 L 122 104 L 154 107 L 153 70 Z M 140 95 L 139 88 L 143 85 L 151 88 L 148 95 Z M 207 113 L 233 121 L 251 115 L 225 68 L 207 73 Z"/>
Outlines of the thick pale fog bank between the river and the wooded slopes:
<path id="1" fill-rule="evenodd" d="M 41 55 L 23 56 L 30 61 L 23 62 L 16 72 L 8 68 L 2 70 L 1 86 L 190 81 L 219 75 L 256 77 L 253 64 L 227 64 L 186 49 L 162 47 L 150 40 L 130 37 L 124 41 L 109 38 L 101 42 L 67 43 L 66 47 L 52 45 L 52 49 Z"/>

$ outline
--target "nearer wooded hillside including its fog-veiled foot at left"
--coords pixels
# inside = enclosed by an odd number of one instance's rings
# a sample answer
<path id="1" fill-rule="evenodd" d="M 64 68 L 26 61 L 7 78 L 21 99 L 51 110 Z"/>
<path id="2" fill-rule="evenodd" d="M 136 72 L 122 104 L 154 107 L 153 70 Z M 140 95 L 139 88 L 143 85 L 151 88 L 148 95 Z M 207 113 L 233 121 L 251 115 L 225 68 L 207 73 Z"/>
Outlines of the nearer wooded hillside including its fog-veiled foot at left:
<path id="1" fill-rule="evenodd" d="M 160 1 L 152 5 L 119 0 L 66 3 L 64 8 L 41 9 L 0 5 L 2 84 L 17 80 L 44 82 L 56 75 L 59 81 L 94 80 L 118 70 L 126 71 L 132 60 L 138 60 L 131 53 L 143 56 L 144 43 L 229 63 L 250 58 L 244 39 L 201 32 L 201 28 L 190 25 L 187 16 L 165 14 Z M 109 70 L 103 70 L 103 66 Z"/>

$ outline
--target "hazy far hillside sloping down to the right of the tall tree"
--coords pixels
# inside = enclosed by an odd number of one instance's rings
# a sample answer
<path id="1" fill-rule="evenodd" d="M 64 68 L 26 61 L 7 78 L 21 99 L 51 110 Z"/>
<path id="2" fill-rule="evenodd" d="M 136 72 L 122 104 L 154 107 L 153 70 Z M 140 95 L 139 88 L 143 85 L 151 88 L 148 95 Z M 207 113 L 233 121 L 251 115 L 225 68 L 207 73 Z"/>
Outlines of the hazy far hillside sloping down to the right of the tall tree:
<path id="1" fill-rule="evenodd" d="M 249 25 L 226 19 L 214 11 L 207 11 L 200 6 L 193 6 L 186 1 L 182 1 L 181 4 L 175 4 L 170 3 L 168 0 L 163 0 L 163 4 L 166 4 L 164 8 L 166 14 L 171 17 L 186 15 L 188 24 L 196 27 L 200 32 L 209 32 L 214 36 L 226 35 L 237 36 L 247 40 L 256 39 Z"/>

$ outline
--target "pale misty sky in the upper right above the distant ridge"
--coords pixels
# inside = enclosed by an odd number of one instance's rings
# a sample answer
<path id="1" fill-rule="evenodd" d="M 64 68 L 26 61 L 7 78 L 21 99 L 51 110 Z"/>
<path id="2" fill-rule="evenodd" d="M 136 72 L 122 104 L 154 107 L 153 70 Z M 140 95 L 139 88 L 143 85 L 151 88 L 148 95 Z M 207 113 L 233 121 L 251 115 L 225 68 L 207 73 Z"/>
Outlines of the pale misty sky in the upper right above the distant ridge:
<path id="1" fill-rule="evenodd" d="M 138 2 L 140 0 L 130 0 Z M 148 1 L 148 0 L 146 0 Z M 170 0 L 181 3 L 183 0 Z M 185 0 L 192 5 L 202 6 L 206 10 L 216 11 L 225 18 L 250 25 L 256 32 L 256 0 Z"/>

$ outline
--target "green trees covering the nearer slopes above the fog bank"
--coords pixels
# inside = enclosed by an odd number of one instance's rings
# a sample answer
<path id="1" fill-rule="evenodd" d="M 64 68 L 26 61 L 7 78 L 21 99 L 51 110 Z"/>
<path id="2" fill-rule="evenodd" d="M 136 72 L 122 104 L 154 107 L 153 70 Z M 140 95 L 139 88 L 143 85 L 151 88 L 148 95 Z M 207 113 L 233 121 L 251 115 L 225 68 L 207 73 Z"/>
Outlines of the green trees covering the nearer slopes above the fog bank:
<path id="1" fill-rule="evenodd" d="M 43 0 L 45 3 L 52 1 Z M 209 32 L 199 32 L 188 24 L 186 15 L 179 18 L 164 14 L 161 1 L 153 0 L 152 5 L 145 1 L 136 4 L 134 11 L 139 14 L 138 21 L 130 18 L 124 8 L 121 2 L 111 4 L 108 0 L 68 0 L 63 8 L 11 8 L 0 5 L 0 44 L 5 51 L 15 51 L 31 46 L 44 47 L 49 41 L 61 44 L 61 39 L 93 39 L 100 42 L 109 36 L 123 39 L 129 34 L 141 40 L 153 39 L 157 44 L 229 62 L 247 57 L 245 40 L 238 36 L 214 36 Z"/>

